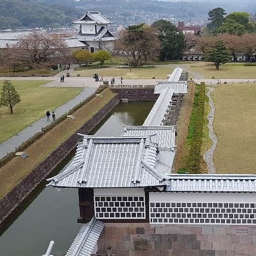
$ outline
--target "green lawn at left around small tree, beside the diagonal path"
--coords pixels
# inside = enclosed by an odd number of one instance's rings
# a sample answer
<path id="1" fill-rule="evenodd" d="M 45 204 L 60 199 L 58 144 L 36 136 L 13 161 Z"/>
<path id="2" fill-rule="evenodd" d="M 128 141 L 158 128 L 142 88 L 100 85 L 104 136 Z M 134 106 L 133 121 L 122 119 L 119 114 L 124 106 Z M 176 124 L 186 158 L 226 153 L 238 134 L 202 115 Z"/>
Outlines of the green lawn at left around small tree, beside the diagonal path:
<path id="1" fill-rule="evenodd" d="M 1 107 L 0 143 L 18 133 L 45 115 L 47 109 L 54 110 L 75 97 L 82 88 L 39 87 L 47 80 L 13 80 L 16 90 L 20 93 L 21 102 L 9 113 L 9 108 Z M 3 81 L 0 81 L 2 88 Z"/>

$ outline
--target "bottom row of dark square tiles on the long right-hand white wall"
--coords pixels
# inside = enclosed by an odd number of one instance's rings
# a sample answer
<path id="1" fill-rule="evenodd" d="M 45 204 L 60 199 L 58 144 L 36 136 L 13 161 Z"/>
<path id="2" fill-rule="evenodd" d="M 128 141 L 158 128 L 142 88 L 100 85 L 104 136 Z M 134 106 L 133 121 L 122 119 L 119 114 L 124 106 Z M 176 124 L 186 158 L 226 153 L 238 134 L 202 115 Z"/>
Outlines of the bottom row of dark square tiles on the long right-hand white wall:
<path id="1" fill-rule="evenodd" d="M 151 223 L 256 224 L 256 219 L 178 219 L 151 218 Z"/>

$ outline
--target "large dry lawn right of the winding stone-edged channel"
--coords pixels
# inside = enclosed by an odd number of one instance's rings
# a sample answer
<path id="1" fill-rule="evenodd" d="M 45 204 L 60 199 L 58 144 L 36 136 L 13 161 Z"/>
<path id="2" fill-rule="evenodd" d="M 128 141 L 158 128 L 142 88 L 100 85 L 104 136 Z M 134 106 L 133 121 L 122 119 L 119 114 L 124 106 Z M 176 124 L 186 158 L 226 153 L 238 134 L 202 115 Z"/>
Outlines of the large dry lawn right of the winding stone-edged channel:
<path id="1" fill-rule="evenodd" d="M 216 86 L 214 131 L 218 138 L 214 153 L 217 173 L 256 174 L 256 86 Z"/>

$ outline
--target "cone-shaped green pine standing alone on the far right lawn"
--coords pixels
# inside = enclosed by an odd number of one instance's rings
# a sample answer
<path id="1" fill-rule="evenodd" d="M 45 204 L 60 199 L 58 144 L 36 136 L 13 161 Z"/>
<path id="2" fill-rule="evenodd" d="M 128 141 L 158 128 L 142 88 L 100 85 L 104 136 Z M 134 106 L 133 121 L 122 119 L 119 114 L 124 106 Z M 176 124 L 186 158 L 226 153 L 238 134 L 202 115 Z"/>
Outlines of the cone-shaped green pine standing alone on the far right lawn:
<path id="1" fill-rule="evenodd" d="M 217 41 L 210 50 L 206 52 L 207 61 L 213 62 L 216 69 L 219 70 L 220 64 L 230 61 L 230 51 L 225 47 L 222 41 Z"/>

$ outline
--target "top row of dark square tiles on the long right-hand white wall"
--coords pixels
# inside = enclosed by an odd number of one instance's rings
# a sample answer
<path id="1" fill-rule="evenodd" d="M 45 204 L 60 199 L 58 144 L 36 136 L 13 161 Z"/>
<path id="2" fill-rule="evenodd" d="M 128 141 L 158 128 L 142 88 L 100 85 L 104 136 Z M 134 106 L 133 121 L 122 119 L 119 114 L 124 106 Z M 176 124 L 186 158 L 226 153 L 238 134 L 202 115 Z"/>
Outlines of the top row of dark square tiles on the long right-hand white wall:
<path id="1" fill-rule="evenodd" d="M 151 207 L 256 208 L 256 204 L 233 203 L 150 203 Z"/>

